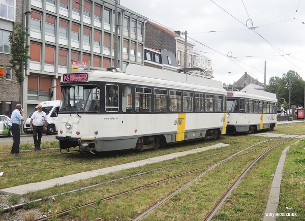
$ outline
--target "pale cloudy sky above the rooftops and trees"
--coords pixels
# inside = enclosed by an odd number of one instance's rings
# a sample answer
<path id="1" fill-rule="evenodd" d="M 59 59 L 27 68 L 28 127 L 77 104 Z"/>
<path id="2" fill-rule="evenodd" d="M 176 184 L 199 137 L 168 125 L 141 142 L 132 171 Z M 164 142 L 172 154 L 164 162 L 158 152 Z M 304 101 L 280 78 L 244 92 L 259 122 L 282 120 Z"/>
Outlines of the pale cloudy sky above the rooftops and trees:
<path id="1" fill-rule="evenodd" d="M 305 0 L 120 0 L 120 5 L 172 31 L 187 31 L 194 51 L 211 59 L 215 80 L 232 84 L 247 72 L 263 83 L 265 69 L 266 84 L 289 70 L 305 80 Z"/>

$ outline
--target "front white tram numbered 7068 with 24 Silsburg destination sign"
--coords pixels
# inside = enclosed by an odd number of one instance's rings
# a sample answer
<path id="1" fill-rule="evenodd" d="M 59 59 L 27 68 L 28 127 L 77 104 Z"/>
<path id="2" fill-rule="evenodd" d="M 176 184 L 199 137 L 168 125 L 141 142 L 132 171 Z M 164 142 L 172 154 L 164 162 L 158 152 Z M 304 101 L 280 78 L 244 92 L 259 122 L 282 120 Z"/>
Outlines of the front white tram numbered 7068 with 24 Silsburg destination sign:
<path id="1" fill-rule="evenodd" d="M 130 64 L 125 73 L 67 73 L 60 86 L 60 151 L 143 150 L 226 134 L 220 81 Z"/>

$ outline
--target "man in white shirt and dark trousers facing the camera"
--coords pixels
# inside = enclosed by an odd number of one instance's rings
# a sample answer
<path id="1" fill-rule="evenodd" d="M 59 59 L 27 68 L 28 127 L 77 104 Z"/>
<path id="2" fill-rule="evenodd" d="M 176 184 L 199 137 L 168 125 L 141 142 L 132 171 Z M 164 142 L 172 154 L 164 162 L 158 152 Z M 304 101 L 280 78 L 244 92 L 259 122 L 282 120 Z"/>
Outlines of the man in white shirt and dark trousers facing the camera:
<path id="1" fill-rule="evenodd" d="M 43 129 L 47 130 L 47 115 L 42 111 L 42 105 L 37 106 L 37 111 L 32 114 L 29 128 L 33 129 L 33 138 L 35 144 L 35 150 L 41 150 L 40 143 Z M 38 135 L 38 138 L 37 138 Z"/>

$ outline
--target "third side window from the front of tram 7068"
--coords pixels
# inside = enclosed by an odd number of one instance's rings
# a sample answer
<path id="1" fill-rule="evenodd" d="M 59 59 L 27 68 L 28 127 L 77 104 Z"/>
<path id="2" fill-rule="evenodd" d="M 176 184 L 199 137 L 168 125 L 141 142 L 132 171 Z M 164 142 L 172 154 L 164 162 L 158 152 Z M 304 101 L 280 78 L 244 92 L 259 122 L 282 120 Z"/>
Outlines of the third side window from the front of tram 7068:
<path id="1" fill-rule="evenodd" d="M 151 88 L 136 87 L 136 112 L 151 112 Z"/>

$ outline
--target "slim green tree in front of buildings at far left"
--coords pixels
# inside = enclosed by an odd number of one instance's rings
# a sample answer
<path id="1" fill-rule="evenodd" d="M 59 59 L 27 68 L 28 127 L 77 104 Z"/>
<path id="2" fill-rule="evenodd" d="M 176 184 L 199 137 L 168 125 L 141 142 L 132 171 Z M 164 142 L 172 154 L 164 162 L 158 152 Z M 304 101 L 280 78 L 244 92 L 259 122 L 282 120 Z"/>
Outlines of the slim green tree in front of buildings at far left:
<path id="1" fill-rule="evenodd" d="M 22 89 L 21 84 L 24 81 L 23 70 L 27 70 L 27 60 L 31 58 L 28 55 L 29 45 L 25 45 L 26 37 L 29 36 L 27 30 L 27 27 L 23 30 L 22 24 L 16 24 L 13 35 L 9 36 L 12 55 L 10 64 L 20 85 L 20 94 Z"/>

